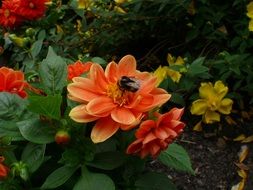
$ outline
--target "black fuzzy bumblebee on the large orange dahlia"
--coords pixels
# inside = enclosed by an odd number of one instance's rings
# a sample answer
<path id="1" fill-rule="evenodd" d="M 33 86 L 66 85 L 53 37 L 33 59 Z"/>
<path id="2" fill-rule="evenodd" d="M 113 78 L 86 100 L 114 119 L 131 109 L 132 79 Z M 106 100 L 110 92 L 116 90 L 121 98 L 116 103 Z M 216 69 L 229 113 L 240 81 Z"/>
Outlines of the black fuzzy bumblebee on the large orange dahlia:
<path id="1" fill-rule="evenodd" d="M 122 76 L 118 81 L 118 85 L 123 91 L 136 92 L 140 88 L 140 80 L 134 77 Z"/>

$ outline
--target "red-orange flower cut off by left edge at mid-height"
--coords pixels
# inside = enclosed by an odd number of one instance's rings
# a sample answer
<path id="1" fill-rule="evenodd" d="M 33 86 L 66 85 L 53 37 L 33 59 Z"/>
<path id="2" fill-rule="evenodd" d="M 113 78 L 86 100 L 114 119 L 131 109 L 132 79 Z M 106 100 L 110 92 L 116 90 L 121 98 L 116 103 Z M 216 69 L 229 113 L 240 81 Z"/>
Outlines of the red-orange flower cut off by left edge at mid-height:
<path id="1" fill-rule="evenodd" d="M 10 92 L 25 98 L 27 93 L 24 88 L 27 86 L 23 72 L 14 71 L 7 67 L 0 68 L 0 92 Z"/>

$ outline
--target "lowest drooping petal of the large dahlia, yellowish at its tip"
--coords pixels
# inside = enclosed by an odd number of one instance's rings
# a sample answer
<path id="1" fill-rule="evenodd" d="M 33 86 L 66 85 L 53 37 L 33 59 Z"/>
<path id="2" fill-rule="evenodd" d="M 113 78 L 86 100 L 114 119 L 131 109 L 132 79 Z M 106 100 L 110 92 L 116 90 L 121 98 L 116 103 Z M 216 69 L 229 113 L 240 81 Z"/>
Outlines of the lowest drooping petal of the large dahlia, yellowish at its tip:
<path id="1" fill-rule="evenodd" d="M 114 135 L 119 129 L 119 124 L 110 117 L 101 118 L 91 131 L 91 140 L 94 143 L 104 142 Z"/>

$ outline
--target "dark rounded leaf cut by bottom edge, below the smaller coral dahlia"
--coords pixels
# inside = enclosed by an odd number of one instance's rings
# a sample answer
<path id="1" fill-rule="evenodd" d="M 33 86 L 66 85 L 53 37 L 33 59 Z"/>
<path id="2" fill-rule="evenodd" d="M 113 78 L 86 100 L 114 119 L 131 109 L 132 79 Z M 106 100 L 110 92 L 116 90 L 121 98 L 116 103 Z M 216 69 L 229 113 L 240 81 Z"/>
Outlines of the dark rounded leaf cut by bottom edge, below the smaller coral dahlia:
<path id="1" fill-rule="evenodd" d="M 136 182 L 138 190 L 176 190 L 171 180 L 161 173 L 149 172 L 142 175 Z"/>

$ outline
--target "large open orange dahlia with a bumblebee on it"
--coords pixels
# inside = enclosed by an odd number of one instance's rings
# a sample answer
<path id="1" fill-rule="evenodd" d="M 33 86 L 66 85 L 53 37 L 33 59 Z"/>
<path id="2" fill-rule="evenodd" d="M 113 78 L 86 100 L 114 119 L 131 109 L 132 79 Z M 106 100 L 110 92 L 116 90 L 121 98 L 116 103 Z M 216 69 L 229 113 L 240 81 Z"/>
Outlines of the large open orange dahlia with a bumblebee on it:
<path id="1" fill-rule="evenodd" d="M 155 76 L 136 70 L 136 60 L 131 55 L 123 57 L 118 64 L 112 61 L 105 71 L 94 63 L 87 78 L 72 80 L 68 85 L 69 98 L 81 104 L 69 115 L 76 122 L 97 120 L 91 132 L 95 143 L 110 138 L 118 129 L 133 128 L 145 112 L 161 106 L 171 96 L 156 87 Z"/>

